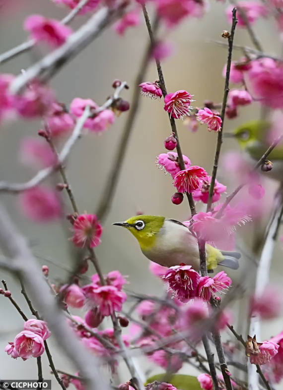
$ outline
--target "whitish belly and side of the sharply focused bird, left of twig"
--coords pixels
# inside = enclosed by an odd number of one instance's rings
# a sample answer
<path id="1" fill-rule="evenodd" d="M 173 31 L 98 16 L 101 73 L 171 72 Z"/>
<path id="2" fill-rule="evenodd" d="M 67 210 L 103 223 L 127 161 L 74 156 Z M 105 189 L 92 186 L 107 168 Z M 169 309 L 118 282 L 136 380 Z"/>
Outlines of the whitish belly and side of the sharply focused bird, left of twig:
<path id="1" fill-rule="evenodd" d="M 183 225 L 165 221 L 150 249 L 142 253 L 151 261 L 164 267 L 177 266 L 180 263 L 191 265 L 199 270 L 199 250 L 196 238 Z"/>

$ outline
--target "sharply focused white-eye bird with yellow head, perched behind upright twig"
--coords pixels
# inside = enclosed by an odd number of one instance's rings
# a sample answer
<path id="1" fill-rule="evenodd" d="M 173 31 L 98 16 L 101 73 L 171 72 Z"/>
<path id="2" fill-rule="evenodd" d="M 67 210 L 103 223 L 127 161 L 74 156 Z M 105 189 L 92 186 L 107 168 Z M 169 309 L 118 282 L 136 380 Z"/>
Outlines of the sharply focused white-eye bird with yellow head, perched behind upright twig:
<path id="1" fill-rule="evenodd" d="M 183 223 L 160 216 L 139 215 L 113 225 L 126 227 L 139 241 L 141 252 L 151 261 L 164 267 L 185 263 L 196 271 L 200 268 L 197 238 Z M 211 272 L 222 265 L 238 269 L 237 252 L 220 251 L 206 244 L 207 266 Z"/>

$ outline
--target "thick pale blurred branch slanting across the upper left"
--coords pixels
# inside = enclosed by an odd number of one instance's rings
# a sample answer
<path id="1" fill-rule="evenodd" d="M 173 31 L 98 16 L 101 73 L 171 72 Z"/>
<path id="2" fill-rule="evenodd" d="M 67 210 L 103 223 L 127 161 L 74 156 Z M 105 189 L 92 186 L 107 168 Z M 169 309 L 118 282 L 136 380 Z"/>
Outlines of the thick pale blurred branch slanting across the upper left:
<path id="1" fill-rule="evenodd" d="M 112 24 L 123 14 L 124 5 L 119 5 L 117 9 L 110 9 L 108 7 L 99 9 L 69 37 L 65 44 L 31 65 L 23 74 L 17 76 L 11 83 L 11 93 L 19 93 L 35 77 L 40 78 L 40 76 L 45 75 L 44 81 L 46 81 L 50 76 L 54 76 L 63 65 L 97 38 L 105 27 Z"/>

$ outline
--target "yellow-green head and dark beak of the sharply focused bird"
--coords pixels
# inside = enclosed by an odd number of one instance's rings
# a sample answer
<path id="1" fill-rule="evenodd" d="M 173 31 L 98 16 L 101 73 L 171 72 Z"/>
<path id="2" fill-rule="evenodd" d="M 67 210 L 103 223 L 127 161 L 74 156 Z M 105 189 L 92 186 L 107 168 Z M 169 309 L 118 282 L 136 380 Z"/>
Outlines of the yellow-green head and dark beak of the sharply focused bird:
<path id="1" fill-rule="evenodd" d="M 152 215 L 139 215 L 125 222 L 113 223 L 113 225 L 126 227 L 137 238 L 141 249 L 149 249 L 154 245 L 156 234 L 159 232 L 165 217 Z"/>

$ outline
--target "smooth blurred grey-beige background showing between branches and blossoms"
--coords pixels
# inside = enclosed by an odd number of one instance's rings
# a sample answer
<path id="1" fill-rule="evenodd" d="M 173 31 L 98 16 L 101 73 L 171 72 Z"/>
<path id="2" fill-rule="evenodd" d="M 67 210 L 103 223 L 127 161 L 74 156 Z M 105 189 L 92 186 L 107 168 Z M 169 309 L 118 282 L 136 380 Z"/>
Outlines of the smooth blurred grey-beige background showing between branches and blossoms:
<path id="1" fill-rule="evenodd" d="M 202 107 L 204 100 L 212 100 L 215 103 L 222 101 L 224 79 L 221 74 L 226 63 L 227 50 L 225 47 L 212 43 L 212 41 L 221 40 L 222 30 L 230 28 L 224 14 L 225 7 L 226 5 L 222 2 L 212 1 L 210 11 L 202 19 L 185 19 L 168 36 L 168 39 L 174 44 L 174 55 L 163 64 L 167 90 L 174 92 L 186 89 L 194 95 L 195 106 Z M 11 5 L 0 15 L 0 51 L 4 52 L 27 39 L 27 33 L 23 31 L 22 25 L 28 15 L 38 13 L 60 19 L 67 12 L 67 8 L 60 8 L 49 0 L 21 0 Z M 86 19 L 87 15 L 78 16 L 71 27 L 75 29 Z M 272 21 L 259 21 L 255 30 L 268 53 L 280 53 L 280 41 L 275 37 Z M 222 41 L 226 42 L 223 39 Z M 242 29 L 236 30 L 234 42 L 238 45 L 252 46 L 249 36 Z M 123 38 L 117 36 L 112 29 L 105 31 L 99 39 L 90 44 L 52 79 L 51 86 L 55 88 L 58 100 L 69 106 L 74 97 L 91 98 L 101 105 L 112 93 L 113 80 L 119 78 L 128 82 L 130 89 L 124 90 L 122 97 L 131 102 L 133 83 L 146 45 L 147 31 L 142 18 L 141 25 L 129 29 Z M 0 65 L 0 72 L 18 74 L 39 55 L 39 52 L 32 52 L 18 56 Z M 233 59 L 240 57 L 241 52 L 234 50 Z M 156 68 L 151 62 L 143 81 L 154 81 L 156 78 Z M 127 115 L 127 112 L 122 114 L 102 135 L 88 134 L 82 137 L 71 153 L 67 173 L 80 212 L 91 213 L 98 205 L 107 175 L 112 168 L 113 156 Z M 259 107 L 256 103 L 247 108 L 243 107 L 236 119 L 225 120 L 225 131 L 232 130 L 248 119 L 258 117 Z M 198 132 L 192 133 L 181 120 L 177 121 L 177 125 L 183 154 L 191 159 L 193 165 L 205 167 L 211 173 L 216 134 L 209 133 L 206 126 L 200 126 Z M 0 180 L 22 182 L 36 172 L 36 167 L 32 170 L 22 166 L 18 156 L 21 140 L 27 135 L 36 135 L 39 128 L 40 122 L 36 120 L 13 120 L 3 123 L 0 129 Z M 162 101 L 141 97 L 141 105 L 114 201 L 103 224 L 102 243 L 96 249 L 104 273 L 118 269 L 123 275 L 129 276 L 130 284 L 127 288 L 130 290 L 159 296 L 162 295 L 164 287 L 149 272 L 149 261 L 141 254 L 138 243 L 127 231 L 117 229 L 117 227 L 112 226 L 112 223 L 124 221 L 135 215 L 137 211 L 144 214 L 164 215 L 180 221 L 189 219 L 187 202 L 184 201 L 179 206 L 171 203 L 171 196 L 174 192 L 171 177 L 165 176 L 163 171 L 155 167 L 156 156 L 166 152 L 163 141 L 169 135 L 168 116 L 163 110 Z M 234 140 L 225 139 L 220 158 L 221 168 L 217 179 L 227 185 L 227 193 L 235 188 L 235 182 L 233 178 L 231 180 L 229 170 L 222 164 L 224 153 L 229 150 L 238 150 L 238 146 Z M 49 181 L 54 184 L 58 180 L 53 178 Z M 261 221 L 249 223 L 240 229 L 238 242 L 241 246 L 251 248 L 255 236 L 260 236 L 261 232 L 264 231 L 277 183 L 266 179 L 265 184 L 265 214 Z M 62 223 L 39 226 L 22 217 L 17 196 L 1 195 L 1 201 L 19 230 L 31 240 L 39 264 L 47 264 L 50 267 L 50 280 L 64 280 L 68 275 L 66 270 L 71 269 L 72 264 L 72 253 L 67 239 L 71 236 L 68 222 L 62 221 Z M 64 194 L 64 201 L 66 210 L 71 212 L 66 194 Z M 197 205 L 197 207 L 198 210 L 202 209 L 201 205 Z M 282 243 L 279 242 L 271 270 L 271 282 L 275 285 L 282 284 L 281 250 Z M 248 260 L 243 256 L 243 261 Z M 92 274 L 91 270 L 88 274 Z M 231 272 L 229 275 L 236 282 L 240 271 Z M 252 272 L 249 277 L 250 287 L 253 286 L 254 276 L 255 272 Z M 28 313 L 20 294 L 18 282 L 2 271 L 0 271 L 0 277 L 7 281 L 13 297 Z M 238 321 L 234 325 L 240 331 L 245 329 L 246 324 L 246 307 L 241 303 L 241 300 L 245 301 L 245 297 L 233 305 L 235 318 Z M 0 297 L 0 307 L 0 377 L 5 379 L 33 378 L 36 376 L 35 359 L 23 362 L 21 359 L 13 360 L 4 353 L 7 342 L 13 340 L 14 335 L 22 330 L 22 319 L 8 299 Z M 262 338 L 263 340 L 270 338 L 281 331 L 282 318 L 270 321 L 268 324 L 264 323 Z M 226 336 L 230 338 L 230 334 L 224 333 L 223 337 Z M 71 367 L 64 354 L 57 349 L 57 346 L 52 343 L 52 337 L 50 343 L 56 367 L 73 373 L 74 368 Z M 43 356 L 43 364 L 44 378 L 51 378 L 45 356 Z M 149 365 L 152 366 L 151 363 L 144 360 L 144 367 L 149 367 Z M 160 368 L 156 367 L 151 373 L 161 371 Z M 182 373 L 182 370 L 180 372 Z M 196 374 L 191 368 L 185 369 L 185 372 Z M 121 382 L 125 380 L 127 380 L 127 375 L 122 367 Z M 58 388 L 57 382 L 53 380 L 53 389 Z M 283 385 L 277 388 L 283 389 Z"/>

